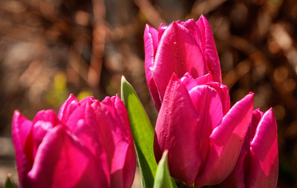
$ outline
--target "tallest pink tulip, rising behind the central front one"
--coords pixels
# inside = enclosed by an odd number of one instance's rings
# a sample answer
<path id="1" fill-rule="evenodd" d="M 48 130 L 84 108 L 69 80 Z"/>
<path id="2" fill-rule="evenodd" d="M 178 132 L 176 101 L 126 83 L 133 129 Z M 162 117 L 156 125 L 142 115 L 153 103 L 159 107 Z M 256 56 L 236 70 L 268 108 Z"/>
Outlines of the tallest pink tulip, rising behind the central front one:
<path id="1" fill-rule="evenodd" d="M 146 25 L 144 44 L 146 81 L 158 111 L 173 72 L 178 78 L 186 72 L 194 78 L 211 72 L 214 81 L 222 83 L 214 37 L 203 15 L 197 22 L 161 24 L 159 31 Z"/>

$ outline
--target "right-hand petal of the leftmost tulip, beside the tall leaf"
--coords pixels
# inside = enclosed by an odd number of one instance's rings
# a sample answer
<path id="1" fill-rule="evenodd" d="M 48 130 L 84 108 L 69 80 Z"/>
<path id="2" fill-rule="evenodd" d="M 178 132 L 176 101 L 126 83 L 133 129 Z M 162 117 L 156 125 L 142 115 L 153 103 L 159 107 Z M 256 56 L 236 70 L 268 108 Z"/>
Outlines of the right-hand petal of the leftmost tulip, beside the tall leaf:
<path id="1" fill-rule="evenodd" d="M 97 114 L 104 125 L 100 129 L 109 159 L 111 187 L 131 187 L 136 155 L 127 110 L 118 95 L 105 97 L 102 104 L 101 113 Z"/>

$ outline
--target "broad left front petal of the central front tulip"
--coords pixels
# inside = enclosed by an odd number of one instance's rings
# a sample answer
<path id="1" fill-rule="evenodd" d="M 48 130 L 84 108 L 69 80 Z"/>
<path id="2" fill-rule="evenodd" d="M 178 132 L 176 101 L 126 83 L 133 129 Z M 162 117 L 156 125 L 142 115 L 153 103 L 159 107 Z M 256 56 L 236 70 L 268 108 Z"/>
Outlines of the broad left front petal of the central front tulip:
<path id="1" fill-rule="evenodd" d="M 158 162 L 168 149 L 170 174 L 188 185 L 193 184 L 201 164 L 199 138 L 193 134 L 198 132 L 198 119 L 186 86 L 173 74 L 157 118 L 154 153 Z"/>

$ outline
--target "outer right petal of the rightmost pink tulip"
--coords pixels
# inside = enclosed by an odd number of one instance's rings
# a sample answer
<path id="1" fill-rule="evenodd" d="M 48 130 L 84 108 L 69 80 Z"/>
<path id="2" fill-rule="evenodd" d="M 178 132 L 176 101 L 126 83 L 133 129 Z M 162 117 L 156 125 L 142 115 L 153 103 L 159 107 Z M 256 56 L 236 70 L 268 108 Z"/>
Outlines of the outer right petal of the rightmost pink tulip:
<path id="1" fill-rule="evenodd" d="M 277 123 L 272 108 L 262 116 L 251 143 L 247 187 L 276 187 L 278 177 Z"/>

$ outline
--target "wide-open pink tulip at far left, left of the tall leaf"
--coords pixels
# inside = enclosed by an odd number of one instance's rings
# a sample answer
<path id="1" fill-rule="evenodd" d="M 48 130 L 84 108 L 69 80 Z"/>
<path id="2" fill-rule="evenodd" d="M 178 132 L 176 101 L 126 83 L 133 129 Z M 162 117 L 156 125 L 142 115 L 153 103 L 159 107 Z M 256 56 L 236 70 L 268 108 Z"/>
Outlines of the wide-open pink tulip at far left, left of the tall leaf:
<path id="1" fill-rule="evenodd" d="M 136 156 L 119 96 L 102 102 L 72 94 L 58 116 L 42 110 L 33 121 L 18 110 L 12 140 L 20 187 L 131 187 Z"/>

